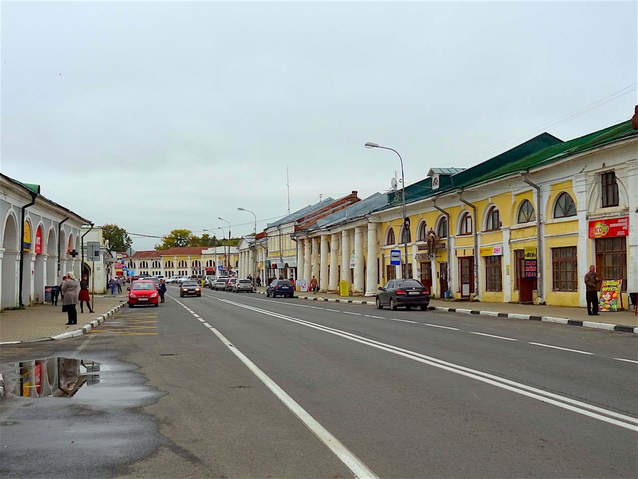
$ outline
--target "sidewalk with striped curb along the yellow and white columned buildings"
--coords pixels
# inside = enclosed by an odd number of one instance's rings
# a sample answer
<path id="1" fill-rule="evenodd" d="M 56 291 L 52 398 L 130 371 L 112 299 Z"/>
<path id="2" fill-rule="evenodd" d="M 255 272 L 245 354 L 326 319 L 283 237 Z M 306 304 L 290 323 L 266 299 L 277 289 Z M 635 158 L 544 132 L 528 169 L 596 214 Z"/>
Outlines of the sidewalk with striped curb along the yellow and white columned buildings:
<path id="1" fill-rule="evenodd" d="M 265 287 L 257 288 L 258 293 L 266 294 Z M 295 293 L 300 299 L 311 301 L 331 301 L 375 306 L 374 297 L 339 296 L 336 293 Z M 449 311 L 480 316 L 505 317 L 509 319 L 526 319 L 530 321 L 545 321 L 549 323 L 568 324 L 570 326 L 584 326 L 609 331 L 638 333 L 638 317 L 634 310 L 618 311 L 614 313 L 600 313 L 589 316 L 587 308 L 568 308 L 546 305 L 523 305 L 519 303 L 483 303 L 480 301 L 430 300 L 430 309 Z"/>

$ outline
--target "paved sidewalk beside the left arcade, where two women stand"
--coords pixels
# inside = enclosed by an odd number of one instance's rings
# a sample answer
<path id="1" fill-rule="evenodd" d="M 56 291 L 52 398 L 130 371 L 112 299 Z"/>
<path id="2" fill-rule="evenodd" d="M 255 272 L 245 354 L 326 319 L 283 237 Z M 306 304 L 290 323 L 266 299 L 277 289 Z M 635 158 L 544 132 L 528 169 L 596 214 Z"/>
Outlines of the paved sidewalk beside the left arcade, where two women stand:
<path id="1" fill-rule="evenodd" d="M 86 305 L 84 305 L 84 313 L 80 313 L 78 304 L 78 324 L 72 326 L 66 325 L 67 316 L 62 312 L 62 300 L 59 298 L 57 306 L 45 303 L 26 307 L 23 310 L 3 310 L 0 313 L 0 345 L 82 335 L 121 308 L 127 298 L 126 289 L 117 296 L 96 294 L 94 304 L 91 305 L 93 314 L 89 313 Z"/>

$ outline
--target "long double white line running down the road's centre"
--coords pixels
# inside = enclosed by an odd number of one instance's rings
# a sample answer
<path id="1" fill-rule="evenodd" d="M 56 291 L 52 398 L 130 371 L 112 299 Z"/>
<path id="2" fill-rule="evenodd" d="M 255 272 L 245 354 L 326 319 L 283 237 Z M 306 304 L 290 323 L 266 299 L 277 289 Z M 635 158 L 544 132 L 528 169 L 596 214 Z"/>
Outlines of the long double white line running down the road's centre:
<path id="1" fill-rule="evenodd" d="M 481 381 L 482 383 L 491 384 L 492 386 L 496 386 L 497 388 L 505 389 L 526 397 L 530 397 L 531 399 L 545 402 L 546 404 L 552 404 L 553 406 L 561 407 L 577 414 L 582 414 L 590 418 L 594 418 L 609 424 L 638 432 L 638 419 L 633 418 L 632 416 L 616 413 L 615 411 L 610 411 L 609 409 L 604 409 L 602 407 L 593 406 L 592 404 L 587 404 L 586 402 L 571 399 L 570 397 L 565 397 L 548 391 L 544 391 L 539 388 L 534 388 L 533 386 L 528 386 L 527 384 L 517 383 L 516 381 L 506 379 L 505 377 L 495 376 L 494 374 L 489 374 L 477 369 L 471 369 L 468 367 L 450 363 L 449 361 L 443 361 L 438 358 L 433 358 L 432 356 L 426 356 L 426 354 L 420 354 L 415 351 L 410 351 L 409 349 L 403 349 L 402 347 L 393 346 L 392 344 L 387 344 L 355 335 L 354 333 L 349 333 L 348 331 L 338 330 L 336 328 L 330 328 L 329 326 L 323 326 L 322 324 L 311 323 L 311 321 L 305 321 L 303 319 L 298 319 L 295 317 L 285 316 L 283 314 L 273 313 L 267 310 L 242 305 L 241 303 L 235 303 L 234 301 L 223 299 L 220 301 L 224 301 L 237 307 L 253 310 L 261 314 L 266 314 L 267 316 L 278 317 L 280 319 L 285 319 L 286 321 L 291 321 L 292 323 L 302 324 L 309 328 L 324 331 L 351 341 L 359 342 L 360 344 L 365 344 L 370 347 L 375 347 L 376 349 L 387 351 L 392 354 L 397 354 L 397 356 L 403 356 L 404 358 L 408 358 L 410 360 L 418 361 L 432 367 L 453 372 L 454 374 L 470 377 L 471 379 Z"/>

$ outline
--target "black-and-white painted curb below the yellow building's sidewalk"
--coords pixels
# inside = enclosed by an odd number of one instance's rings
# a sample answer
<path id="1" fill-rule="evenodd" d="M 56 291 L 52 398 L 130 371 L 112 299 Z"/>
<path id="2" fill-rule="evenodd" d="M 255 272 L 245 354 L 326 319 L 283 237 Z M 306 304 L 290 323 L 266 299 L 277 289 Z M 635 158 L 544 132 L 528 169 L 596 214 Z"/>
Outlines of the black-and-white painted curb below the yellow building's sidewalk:
<path id="1" fill-rule="evenodd" d="M 262 291 L 257 293 L 265 294 Z M 318 298 L 316 296 L 295 296 L 300 300 L 310 301 L 329 301 L 330 303 L 352 303 L 355 305 L 375 305 L 375 301 L 358 301 L 358 300 L 336 300 L 332 298 Z M 544 323 L 556 323 L 567 324 L 568 326 L 582 326 L 583 328 L 593 328 L 596 330 L 605 331 L 618 331 L 620 333 L 636 333 L 638 334 L 638 328 L 633 326 L 623 326 L 622 324 L 610 324 L 610 323 L 595 323 L 594 321 L 580 321 L 577 319 L 567 319 L 565 317 L 552 317 L 552 316 L 532 316 L 530 314 L 514 314 L 514 313 L 500 313 L 496 311 L 477 311 L 463 308 L 443 308 L 440 306 L 427 308 L 431 311 L 441 311 L 460 314 L 475 314 L 478 316 L 491 316 L 500 317 L 505 319 L 524 319 L 525 321 L 542 321 Z"/>

